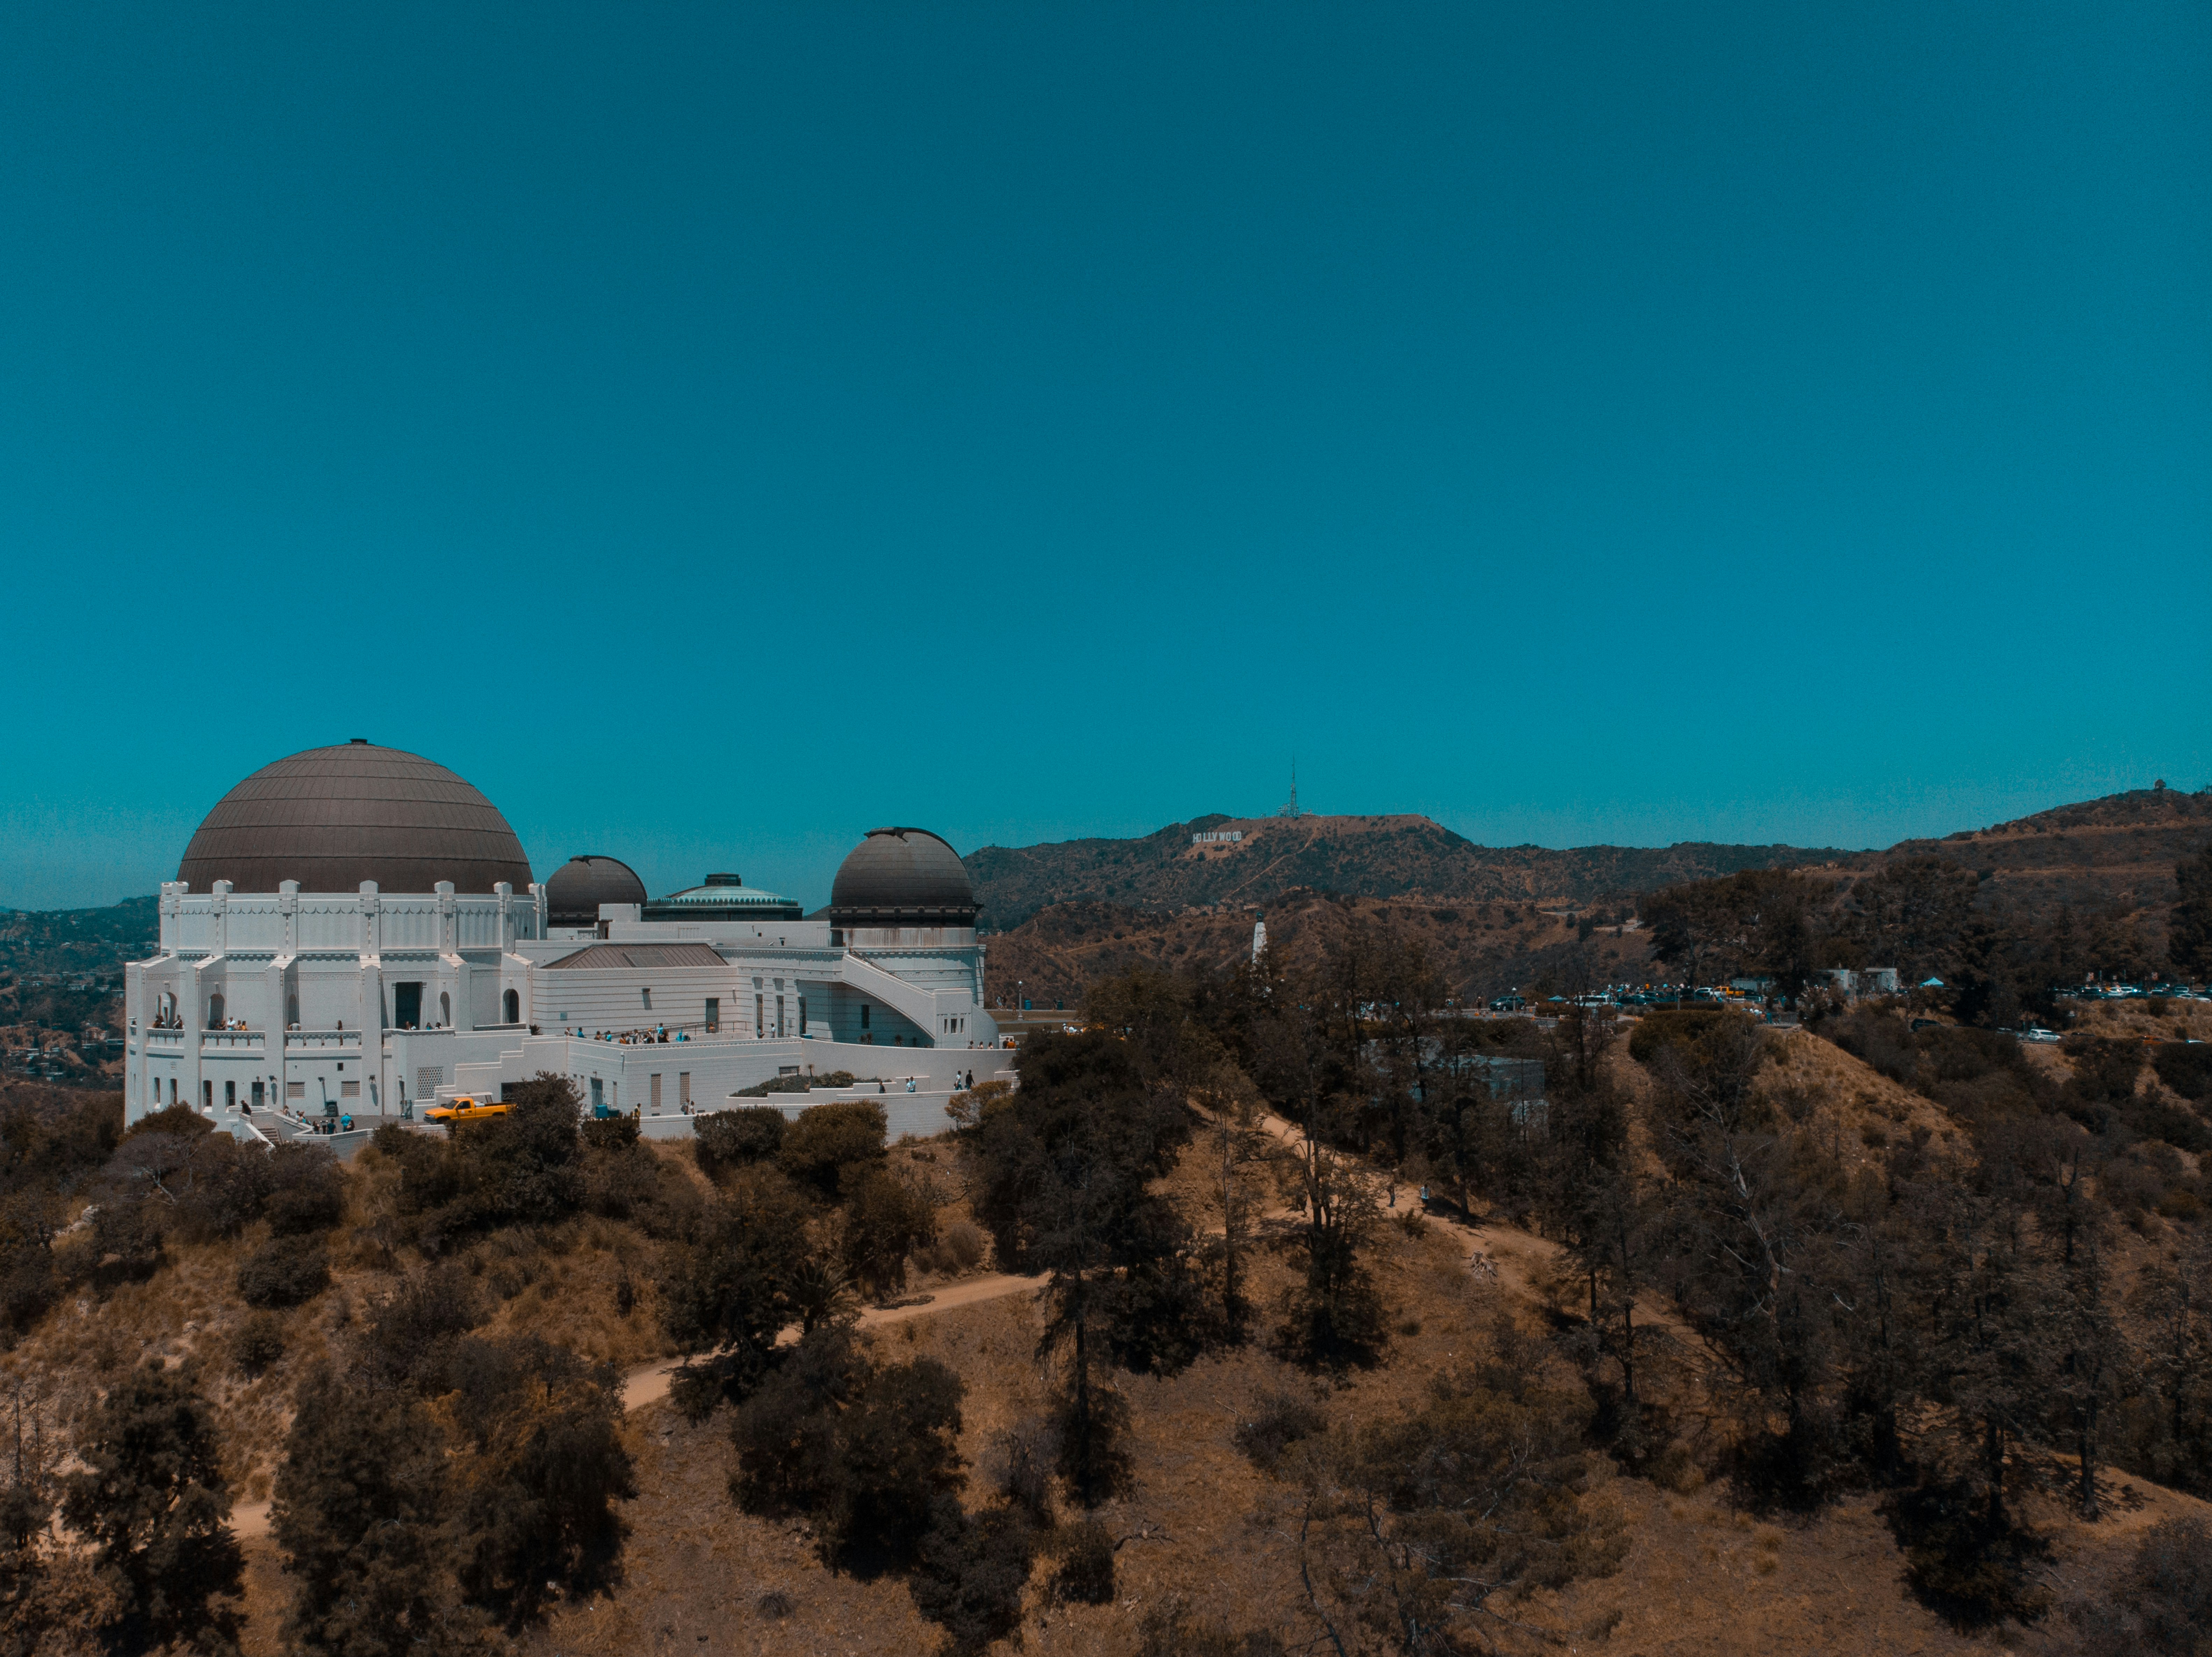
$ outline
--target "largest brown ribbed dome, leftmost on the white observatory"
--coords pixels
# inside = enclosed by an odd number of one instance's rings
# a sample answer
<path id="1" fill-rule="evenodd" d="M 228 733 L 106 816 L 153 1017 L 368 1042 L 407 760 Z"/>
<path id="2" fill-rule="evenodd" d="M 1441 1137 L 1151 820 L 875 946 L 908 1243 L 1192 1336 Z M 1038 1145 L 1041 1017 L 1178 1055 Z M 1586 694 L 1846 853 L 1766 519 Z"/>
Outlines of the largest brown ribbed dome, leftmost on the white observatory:
<path id="1" fill-rule="evenodd" d="M 531 883 L 522 841 L 498 807 L 445 765 L 349 741 L 263 765 L 217 801 L 184 847 L 179 880 L 206 892 L 518 892 Z"/>

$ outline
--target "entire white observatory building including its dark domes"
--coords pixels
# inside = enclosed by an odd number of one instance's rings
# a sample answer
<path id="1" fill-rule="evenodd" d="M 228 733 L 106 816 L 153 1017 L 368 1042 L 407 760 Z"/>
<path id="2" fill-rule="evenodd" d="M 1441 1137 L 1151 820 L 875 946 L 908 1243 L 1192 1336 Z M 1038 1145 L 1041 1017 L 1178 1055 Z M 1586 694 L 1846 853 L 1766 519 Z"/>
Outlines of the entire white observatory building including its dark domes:
<path id="1" fill-rule="evenodd" d="M 869 830 L 814 916 L 737 874 L 648 898 L 613 856 L 540 883 L 445 765 L 310 748 L 223 794 L 161 887 L 161 951 L 126 971 L 126 1119 L 190 1104 L 254 1133 L 555 1073 L 586 1108 L 688 1133 L 759 1102 L 741 1088 L 847 1071 L 894 1135 L 938 1133 L 1013 1060 L 975 916 L 960 854 L 918 827 Z M 847 1093 L 770 1095 L 827 1097 Z"/>

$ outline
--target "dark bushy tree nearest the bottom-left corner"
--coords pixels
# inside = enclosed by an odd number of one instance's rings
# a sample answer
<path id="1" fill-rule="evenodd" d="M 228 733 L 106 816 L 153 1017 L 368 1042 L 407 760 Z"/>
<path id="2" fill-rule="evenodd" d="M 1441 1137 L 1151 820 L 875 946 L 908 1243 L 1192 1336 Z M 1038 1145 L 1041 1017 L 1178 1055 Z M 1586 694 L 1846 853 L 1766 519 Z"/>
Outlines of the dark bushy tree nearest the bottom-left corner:
<path id="1" fill-rule="evenodd" d="M 159 1363 L 117 1376 L 62 1480 L 62 1520 L 115 1588 L 108 1646 L 234 1653 L 246 1555 L 230 1531 L 215 1411 Z"/>

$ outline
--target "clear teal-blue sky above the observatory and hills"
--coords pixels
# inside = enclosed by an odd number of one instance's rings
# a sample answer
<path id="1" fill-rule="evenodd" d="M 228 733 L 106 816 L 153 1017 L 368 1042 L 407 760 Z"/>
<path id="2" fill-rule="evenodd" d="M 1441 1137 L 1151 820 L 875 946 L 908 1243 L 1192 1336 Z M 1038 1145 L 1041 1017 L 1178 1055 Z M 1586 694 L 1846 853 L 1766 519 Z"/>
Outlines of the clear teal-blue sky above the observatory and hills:
<path id="1" fill-rule="evenodd" d="M 0 903 L 2212 781 L 2212 11 L 0 9 Z"/>

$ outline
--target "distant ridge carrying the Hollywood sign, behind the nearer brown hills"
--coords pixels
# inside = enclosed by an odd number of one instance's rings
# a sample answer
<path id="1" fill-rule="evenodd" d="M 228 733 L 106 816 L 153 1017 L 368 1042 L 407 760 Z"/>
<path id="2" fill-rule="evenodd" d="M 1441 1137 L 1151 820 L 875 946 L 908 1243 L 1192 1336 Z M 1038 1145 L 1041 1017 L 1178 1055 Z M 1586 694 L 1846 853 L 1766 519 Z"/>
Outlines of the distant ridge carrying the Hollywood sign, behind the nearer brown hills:
<path id="1" fill-rule="evenodd" d="M 1239 841 L 1194 845 L 1194 834 Z M 1369 898 L 1595 903 L 1739 869 L 1836 863 L 1851 852 L 1798 845 L 1666 847 L 1475 845 L 1427 816 L 1197 816 L 1133 841 L 987 845 L 967 858 L 984 925 L 1004 931 L 1055 903 L 1177 911 L 1267 903 L 1279 892 Z"/>

